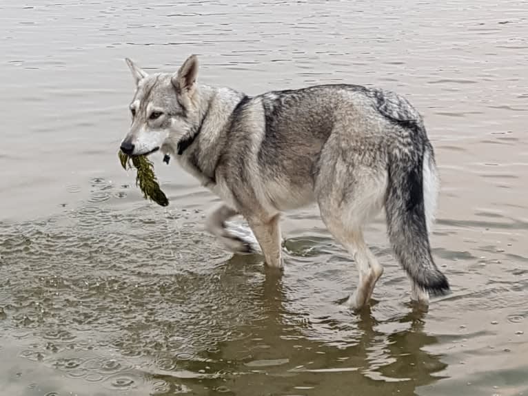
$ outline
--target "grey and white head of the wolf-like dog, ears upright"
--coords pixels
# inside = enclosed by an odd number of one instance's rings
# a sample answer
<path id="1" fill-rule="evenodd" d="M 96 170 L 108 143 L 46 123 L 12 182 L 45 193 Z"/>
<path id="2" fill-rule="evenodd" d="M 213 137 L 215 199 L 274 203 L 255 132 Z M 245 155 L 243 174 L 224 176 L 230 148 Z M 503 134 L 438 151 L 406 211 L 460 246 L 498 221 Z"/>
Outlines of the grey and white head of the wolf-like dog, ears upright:
<path id="1" fill-rule="evenodd" d="M 196 56 L 190 56 L 174 74 L 149 75 L 130 59 L 126 62 L 136 82 L 136 93 L 130 103 L 132 126 L 121 150 L 131 156 L 150 154 L 170 145 L 169 138 L 176 143 L 190 134 L 198 120 Z"/>

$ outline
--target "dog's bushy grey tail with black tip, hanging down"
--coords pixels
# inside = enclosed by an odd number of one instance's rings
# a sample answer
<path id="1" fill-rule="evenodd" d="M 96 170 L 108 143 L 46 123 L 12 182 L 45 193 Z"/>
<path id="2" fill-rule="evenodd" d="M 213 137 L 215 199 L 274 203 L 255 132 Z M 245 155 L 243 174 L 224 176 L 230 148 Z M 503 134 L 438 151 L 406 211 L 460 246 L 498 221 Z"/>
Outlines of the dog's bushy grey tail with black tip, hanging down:
<path id="1" fill-rule="evenodd" d="M 403 139 L 389 152 L 385 198 L 389 240 L 398 261 L 422 289 L 445 294 L 449 282 L 431 256 L 428 231 L 434 215 L 438 178 L 423 125 L 407 125 L 415 138 Z M 412 131 L 411 131 L 412 129 Z"/>

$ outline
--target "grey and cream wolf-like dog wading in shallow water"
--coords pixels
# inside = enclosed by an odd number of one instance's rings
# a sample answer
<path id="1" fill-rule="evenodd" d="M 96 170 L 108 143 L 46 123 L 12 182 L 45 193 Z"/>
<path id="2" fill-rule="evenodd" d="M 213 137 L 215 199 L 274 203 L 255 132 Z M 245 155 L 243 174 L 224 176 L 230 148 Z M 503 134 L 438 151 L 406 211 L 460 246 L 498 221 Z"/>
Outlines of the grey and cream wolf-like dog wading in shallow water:
<path id="1" fill-rule="evenodd" d="M 225 222 L 247 220 L 265 258 L 281 269 L 281 212 L 316 202 L 328 231 L 354 258 L 352 309 L 369 303 L 383 273 L 363 226 L 384 211 L 389 241 L 412 281 L 412 300 L 449 292 L 431 256 L 429 233 L 439 193 L 423 118 L 402 96 L 362 85 L 314 85 L 247 96 L 198 83 L 191 55 L 177 72 L 148 74 L 126 59 L 136 83 L 130 156 L 156 151 L 222 200 L 207 230 L 234 253 L 250 242 Z"/>

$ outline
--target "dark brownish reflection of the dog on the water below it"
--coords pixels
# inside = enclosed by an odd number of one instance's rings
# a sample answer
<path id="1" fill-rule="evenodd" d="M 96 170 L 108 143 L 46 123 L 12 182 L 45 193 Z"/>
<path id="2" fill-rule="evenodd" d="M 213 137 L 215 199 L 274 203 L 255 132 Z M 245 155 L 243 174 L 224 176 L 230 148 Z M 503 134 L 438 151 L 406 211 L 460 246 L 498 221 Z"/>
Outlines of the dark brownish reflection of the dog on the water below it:
<path id="1" fill-rule="evenodd" d="M 421 306 L 378 320 L 376 306 L 336 314 L 329 302 L 328 314 L 315 317 L 309 307 L 292 312 L 287 276 L 263 266 L 258 256 L 234 257 L 227 266 L 227 272 L 262 280 L 247 282 L 247 295 L 261 313 L 241 331 L 250 336 L 219 344 L 232 372 L 222 382 L 233 394 L 251 388 L 255 395 L 295 389 L 317 395 L 412 395 L 447 366 L 424 350 L 437 340 L 424 332 L 427 310 Z M 244 282 L 245 277 L 234 278 Z"/>

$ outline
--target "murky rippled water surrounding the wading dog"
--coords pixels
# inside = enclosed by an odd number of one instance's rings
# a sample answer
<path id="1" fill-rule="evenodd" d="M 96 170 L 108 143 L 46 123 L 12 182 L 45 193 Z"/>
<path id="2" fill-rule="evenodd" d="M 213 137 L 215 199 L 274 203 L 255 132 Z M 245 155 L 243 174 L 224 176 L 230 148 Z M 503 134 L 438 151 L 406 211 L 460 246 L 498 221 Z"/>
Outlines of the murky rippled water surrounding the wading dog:
<path id="1" fill-rule="evenodd" d="M 528 5 L 522 1 L 0 2 L 0 394 L 528 394 Z M 425 116 L 452 284 L 428 312 L 382 222 L 372 308 L 314 208 L 285 273 L 203 231 L 216 198 L 156 158 L 168 209 L 116 158 L 123 61 L 248 94 L 380 85 Z"/>

